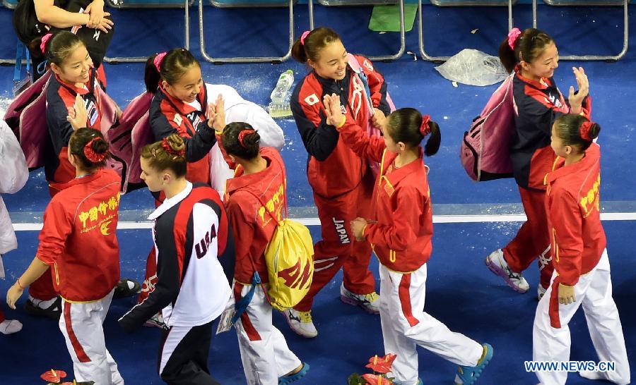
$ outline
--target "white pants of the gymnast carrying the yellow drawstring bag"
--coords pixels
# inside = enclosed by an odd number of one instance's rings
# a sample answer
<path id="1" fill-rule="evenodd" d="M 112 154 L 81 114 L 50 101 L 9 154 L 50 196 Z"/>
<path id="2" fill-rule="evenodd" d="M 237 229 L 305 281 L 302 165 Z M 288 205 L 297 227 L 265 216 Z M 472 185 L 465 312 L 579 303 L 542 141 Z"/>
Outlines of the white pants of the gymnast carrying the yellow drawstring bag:
<path id="1" fill-rule="evenodd" d="M 235 282 L 237 287 L 242 286 Z M 252 286 L 243 286 L 241 297 Z M 301 362 L 288 348 L 281 331 L 271 324 L 271 305 L 265 299 L 261 286 L 254 290 L 254 298 L 236 322 L 245 378 L 249 385 L 277 385 L 278 377 L 288 374 Z"/>

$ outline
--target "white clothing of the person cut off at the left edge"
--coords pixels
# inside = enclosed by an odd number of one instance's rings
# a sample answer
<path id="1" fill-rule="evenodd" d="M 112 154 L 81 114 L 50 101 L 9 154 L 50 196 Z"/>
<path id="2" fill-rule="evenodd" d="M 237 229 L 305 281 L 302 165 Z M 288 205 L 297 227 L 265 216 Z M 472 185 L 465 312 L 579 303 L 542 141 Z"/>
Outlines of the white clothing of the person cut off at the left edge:
<path id="1" fill-rule="evenodd" d="M 16 135 L 0 120 L 0 193 L 13 194 L 23 188 L 29 178 L 24 153 Z M 11 218 L 0 196 L 0 254 L 18 247 Z"/>

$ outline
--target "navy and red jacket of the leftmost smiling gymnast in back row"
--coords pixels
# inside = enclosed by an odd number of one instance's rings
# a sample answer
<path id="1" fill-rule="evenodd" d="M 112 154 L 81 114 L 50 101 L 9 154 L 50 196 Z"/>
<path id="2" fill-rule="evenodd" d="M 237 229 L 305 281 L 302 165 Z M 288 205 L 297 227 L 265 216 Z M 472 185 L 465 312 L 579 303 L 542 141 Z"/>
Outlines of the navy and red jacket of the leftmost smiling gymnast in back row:
<path id="1" fill-rule="evenodd" d="M 93 92 L 100 86 L 100 79 L 95 68 L 90 71 L 90 79 L 86 82 L 86 88 L 78 88 L 59 80 L 55 74 L 51 77 L 47 90 L 47 126 L 51 146 L 45 150 L 45 175 L 47 181 L 54 183 L 66 183 L 75 178 L 75 167 L 71 165 L 66 147 L 73 133 L 71 123 L 66 121 L 69 115 L 68 107 L 75 104 L 75 97 L 80 94 L 84 100 L 88 119 L 86 127 L 100 130 L 102 100 L 99 92 Z"/>

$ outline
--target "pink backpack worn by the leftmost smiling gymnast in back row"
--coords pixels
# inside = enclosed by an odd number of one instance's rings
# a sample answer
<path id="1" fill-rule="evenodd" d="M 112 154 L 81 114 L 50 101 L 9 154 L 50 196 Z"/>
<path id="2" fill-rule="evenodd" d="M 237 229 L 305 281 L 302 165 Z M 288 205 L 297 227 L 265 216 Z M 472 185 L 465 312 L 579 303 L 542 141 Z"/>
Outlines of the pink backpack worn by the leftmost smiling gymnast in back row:
<path id="1" fill-rule="evenodd" d="M 47 127 L 47 89 L 51 80 L 51 71 L 20 92 L 9 104 L 4 119 L 16 134 L 20 147 L 24 152 L 29 169 L 37 169 L 45 164 L 45 149 L 49 145 L 49 128 Z M 100 130 L 108 139 L 108 131 L 117 120 L 117 107 L 101 87 L 95 89 L 102 101 Z M 107 162 L 107 168 L 122 175 L 126 164 L 118 157 Z"/>

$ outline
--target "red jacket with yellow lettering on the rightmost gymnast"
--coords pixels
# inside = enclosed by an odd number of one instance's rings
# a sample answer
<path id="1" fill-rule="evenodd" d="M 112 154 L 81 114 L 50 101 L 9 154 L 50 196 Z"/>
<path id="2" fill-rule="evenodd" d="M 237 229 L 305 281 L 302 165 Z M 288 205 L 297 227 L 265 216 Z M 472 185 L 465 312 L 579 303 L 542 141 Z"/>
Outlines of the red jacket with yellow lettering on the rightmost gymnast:
<path id="1" fill-rule="evenodd" d="M 548 228 L 558 273 L 555 282 L 574 286 L 579 276 L 596 267 L 606 247 L 599 212 L 599 145 L 592 143 L 575 164 L 565 166 L 565 160 L 558 158 L 547 182 Z"/>

